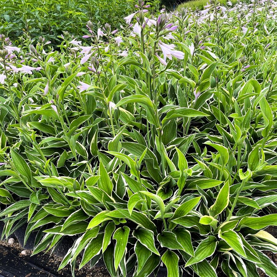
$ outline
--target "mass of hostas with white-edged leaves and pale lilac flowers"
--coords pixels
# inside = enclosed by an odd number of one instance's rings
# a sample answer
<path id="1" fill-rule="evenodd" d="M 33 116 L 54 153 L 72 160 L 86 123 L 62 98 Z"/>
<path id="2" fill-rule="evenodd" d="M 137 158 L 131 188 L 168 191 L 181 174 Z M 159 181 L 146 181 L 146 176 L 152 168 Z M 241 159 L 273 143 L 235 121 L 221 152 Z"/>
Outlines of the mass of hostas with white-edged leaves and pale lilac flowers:
<path id="1" fill-rule="evenodd" d="M 2 236 L 77 237 L 60 268 L 111 276 L 275 277 L 276 3 L 147 9 L 90 46 L 1 36 Z"/>

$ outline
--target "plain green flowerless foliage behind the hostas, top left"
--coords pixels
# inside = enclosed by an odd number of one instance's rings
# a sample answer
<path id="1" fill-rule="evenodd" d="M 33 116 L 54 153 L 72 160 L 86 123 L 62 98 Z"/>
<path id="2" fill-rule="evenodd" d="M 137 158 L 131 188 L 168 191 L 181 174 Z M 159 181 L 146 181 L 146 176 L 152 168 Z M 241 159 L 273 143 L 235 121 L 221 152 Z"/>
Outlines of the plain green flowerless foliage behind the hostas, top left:
<path id="1" fill-rule="evenodd" d="M 0 33 L 16 39 L 27 32 L 31 38 L 44 35 L 52 42 L 66 30 L 80 36 L 85 22 L 108 22 L 117 28 L 133 8 L 133 0 L 2 0 Z"/>

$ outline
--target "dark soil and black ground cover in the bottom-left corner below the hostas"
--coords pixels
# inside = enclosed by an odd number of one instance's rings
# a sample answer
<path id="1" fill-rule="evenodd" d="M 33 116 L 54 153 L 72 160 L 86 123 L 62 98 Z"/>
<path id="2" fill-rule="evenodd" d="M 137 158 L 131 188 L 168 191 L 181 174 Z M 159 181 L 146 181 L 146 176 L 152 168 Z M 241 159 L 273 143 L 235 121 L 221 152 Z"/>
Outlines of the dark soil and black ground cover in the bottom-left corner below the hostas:
<path id="1" fill-rule="evenodd" d="M 14 244 L 8 244 L 0 241 L 0 277 L 68 277 L 71 275 L 70 266 L 66 266 L 57 271 L 61 258 L 50 253 L 38 253 L 30 256 L 32 251 L 25 250 L 26 255 L 22 255 L 23 248 L 18 241 Z M 81 258 L 77 261 L 77 268 Z M 94 266 L 90 268 L 88 265 L 81 268 L 80 271 L 75 270 L 76 277 L 109 277 L 109 273 L 105 267 Z"/>

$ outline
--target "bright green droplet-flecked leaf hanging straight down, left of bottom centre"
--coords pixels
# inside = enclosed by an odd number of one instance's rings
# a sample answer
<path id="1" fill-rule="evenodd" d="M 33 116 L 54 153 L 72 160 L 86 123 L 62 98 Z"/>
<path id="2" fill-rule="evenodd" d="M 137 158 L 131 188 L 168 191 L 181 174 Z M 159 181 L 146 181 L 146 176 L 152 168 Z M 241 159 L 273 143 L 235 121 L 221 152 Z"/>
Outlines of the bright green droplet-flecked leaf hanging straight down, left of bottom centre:
<path id="1" fill-rule="evenodd" d="M 129 232 L 130 228 L 127 226 L 123 226 L 123 228 L 118 228 L 113 234 L 113 239 L 116 240 L 116 245 L 114 249 L 114 267 L 116 270 L 121 259 L 125 255 L 125 248 L 128 242 Z"/>

